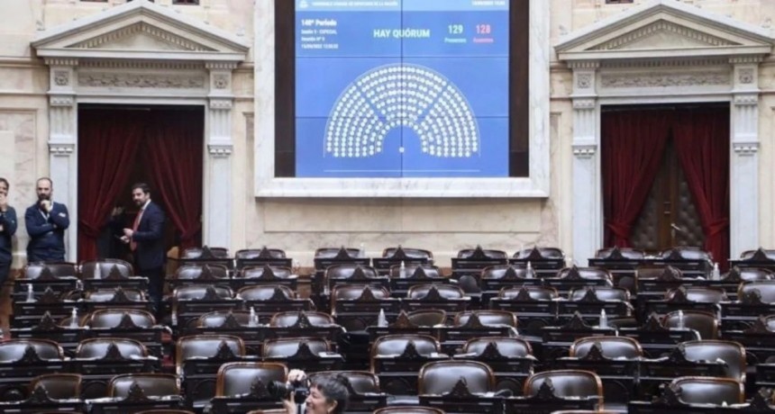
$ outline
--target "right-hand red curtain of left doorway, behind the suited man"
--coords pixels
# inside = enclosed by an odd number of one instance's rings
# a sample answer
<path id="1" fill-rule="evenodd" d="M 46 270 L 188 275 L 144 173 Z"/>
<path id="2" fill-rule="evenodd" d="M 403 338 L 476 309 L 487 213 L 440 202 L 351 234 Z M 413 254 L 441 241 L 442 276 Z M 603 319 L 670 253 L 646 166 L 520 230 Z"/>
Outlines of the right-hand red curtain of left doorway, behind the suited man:
<path id="1" fill-rule="evenodd" d="M 144 146 L 150 164 L 155 200 L 164 205 L 178 229 L 181 248 L 196 246 L 202 229 L 201 111 L 157 111 L 151 115 Z M 227 211 L 214 211 L 228 214 Z"/>

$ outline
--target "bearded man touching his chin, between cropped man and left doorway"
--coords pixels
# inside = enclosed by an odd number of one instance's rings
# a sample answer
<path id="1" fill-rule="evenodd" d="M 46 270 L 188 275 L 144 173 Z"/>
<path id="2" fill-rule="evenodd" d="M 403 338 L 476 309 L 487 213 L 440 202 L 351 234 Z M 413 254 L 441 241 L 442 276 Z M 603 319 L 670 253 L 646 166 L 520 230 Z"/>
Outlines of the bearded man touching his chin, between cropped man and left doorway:
<path id="1" fill-rule="evenodd" d="M 27 261 L 64 262 L 65 230 L 70 226 L 68 207 L 53 202 L 53 183 L 48 177 L 38 179 L 35 188 L 38 202 L 24 212 L 24 223 L 30 242 L 27 244 Z"/>

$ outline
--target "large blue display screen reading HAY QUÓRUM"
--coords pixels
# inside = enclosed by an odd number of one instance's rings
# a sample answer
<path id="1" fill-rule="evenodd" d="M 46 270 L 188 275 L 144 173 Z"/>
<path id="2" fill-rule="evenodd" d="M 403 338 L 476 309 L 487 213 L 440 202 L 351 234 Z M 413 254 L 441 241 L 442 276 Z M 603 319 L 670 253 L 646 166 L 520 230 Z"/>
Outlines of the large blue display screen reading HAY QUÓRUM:
<path id="1" fill-rule="evenodd" d="M 296 176 L 508 176 L 508 4 L 296 0 Z"/>

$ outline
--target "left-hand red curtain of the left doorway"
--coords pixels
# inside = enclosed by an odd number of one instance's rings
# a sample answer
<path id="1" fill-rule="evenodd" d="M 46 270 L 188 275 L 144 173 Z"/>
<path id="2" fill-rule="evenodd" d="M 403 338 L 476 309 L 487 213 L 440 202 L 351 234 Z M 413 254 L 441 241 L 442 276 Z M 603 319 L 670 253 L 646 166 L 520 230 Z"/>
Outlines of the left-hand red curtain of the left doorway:
<path id="1" fill-rule="evenodd" d="M 78 113 L 78 258 L 96 258 L 99 237 L 126 185 L 147 112 Z"/>

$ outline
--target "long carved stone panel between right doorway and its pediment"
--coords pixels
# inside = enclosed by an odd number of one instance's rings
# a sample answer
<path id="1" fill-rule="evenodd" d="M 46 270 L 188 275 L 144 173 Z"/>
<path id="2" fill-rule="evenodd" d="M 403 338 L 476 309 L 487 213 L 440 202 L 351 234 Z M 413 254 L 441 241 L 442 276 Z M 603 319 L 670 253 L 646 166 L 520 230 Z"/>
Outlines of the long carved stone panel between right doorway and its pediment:
<path id="1" fill-rule="evenodd" d="M 601 76 L 600 83 L 610 89 L 633 87 L 676 87 L 730 85 L 728 72 L 703 73 L 617 73 Z"/>

